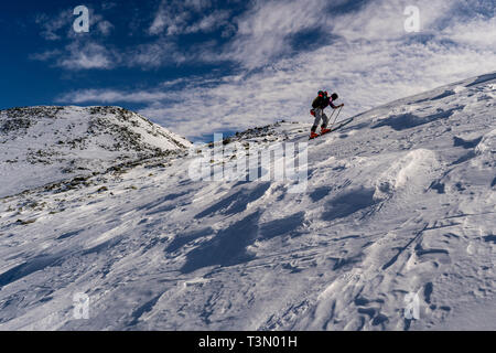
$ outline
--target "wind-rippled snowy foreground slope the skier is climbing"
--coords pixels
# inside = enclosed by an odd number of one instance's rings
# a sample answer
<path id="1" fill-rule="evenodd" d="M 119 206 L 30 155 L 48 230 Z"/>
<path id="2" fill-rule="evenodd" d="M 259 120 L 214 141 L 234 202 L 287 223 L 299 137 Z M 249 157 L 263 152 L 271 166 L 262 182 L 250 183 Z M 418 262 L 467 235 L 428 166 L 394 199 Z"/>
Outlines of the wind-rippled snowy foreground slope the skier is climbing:
<path id="1" fill-rule="evenodd" d="M 495 330 L 495 98 L 489 74 L 354 117 L 300 146 L 300 193 L 194 181 L 194 151 L 4 197 L 0 329 Z M 309 142 L 310 126 L 231 141 Z"/>

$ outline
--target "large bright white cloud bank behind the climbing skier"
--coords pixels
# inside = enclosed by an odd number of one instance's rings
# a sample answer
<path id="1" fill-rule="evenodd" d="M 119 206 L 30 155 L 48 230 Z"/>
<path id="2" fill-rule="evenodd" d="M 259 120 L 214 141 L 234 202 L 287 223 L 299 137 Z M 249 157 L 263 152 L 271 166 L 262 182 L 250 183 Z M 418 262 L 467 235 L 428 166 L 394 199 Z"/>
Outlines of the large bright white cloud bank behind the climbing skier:
<path id="1" fill-rule="evenodd" d="M 240 64 L 236 75 L 209 77 L 214 79 L 208 84 L 197 77 L 184 78 L 137 92 L 75 92 L 64 100 L 144 104 L 141 114 L 194 138 L 276 119 L 310 122 L 310 103 L 322 88 L 339 94 L 346 117 L 496 69 L 494 14 L 479 15 L 472 0 L 417 1 L 420 33 L 403 30 L 402 4 L 407 1 L 376 0 L 339 15 L 324 14 L 326 1 L 313 1 L 313 7 L 303 1 L 255 2 L 238 19 L 239 31 L 225 51 L 205 45 L 180 56 L 185 62 L 230 58 Z M 284 39 L 315 25 L 336 40 L 314 51 L 283 55 L 290 52 Z M 157 43 L 158 47 L 138 51 L 134 64 L 177 62 L 164 54 L 166 46 L 160 43 L 165 42 Z"/>

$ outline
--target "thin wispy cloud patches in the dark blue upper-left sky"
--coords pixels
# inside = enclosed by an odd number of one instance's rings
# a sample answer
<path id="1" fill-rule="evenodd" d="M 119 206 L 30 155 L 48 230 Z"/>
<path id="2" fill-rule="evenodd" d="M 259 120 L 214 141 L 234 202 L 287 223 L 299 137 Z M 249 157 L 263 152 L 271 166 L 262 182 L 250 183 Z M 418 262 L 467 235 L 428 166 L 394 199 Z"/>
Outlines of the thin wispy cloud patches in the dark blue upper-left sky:
<path id="1" fill-rule="evenodd" d="M 103 9 L 111 9 L 112 6 L 114 3 L 101 4 Z M 72 10 L 64 10 L 52 18 L 40 14 L 35 21 L 42 28 L 41 35 L 45 40 L 65 39 L 72 42 L 56 51 L 32 54 L 30 58 L 52 61 L 54 66 L 66 69 L 110 69 L 118 66 L 150 69 L 185 62 L 217 62 L 219 56 L 213 49 L 214 42 L 206 41 L 190 49 L 181 47 L 175 38 L 172 38 L 177 34 L 207 33 L 227 25 L 230 12 L 212 10 L 212 6 L 208 0 L 162 1 L 149 32 L 164 32 L 166 35 L 158 35 L 149 42 L 119 50 L 114 45 L 105 45 L 115 26 L 93 9 L 89 14 L 89 33 L 73 31 L 72 22 L 75 17 Z M 196 22 L 191 23 L 188 19 L 193 12 L 201 15 Z M 83 44 L 84 41 L 86 44 Z"/>

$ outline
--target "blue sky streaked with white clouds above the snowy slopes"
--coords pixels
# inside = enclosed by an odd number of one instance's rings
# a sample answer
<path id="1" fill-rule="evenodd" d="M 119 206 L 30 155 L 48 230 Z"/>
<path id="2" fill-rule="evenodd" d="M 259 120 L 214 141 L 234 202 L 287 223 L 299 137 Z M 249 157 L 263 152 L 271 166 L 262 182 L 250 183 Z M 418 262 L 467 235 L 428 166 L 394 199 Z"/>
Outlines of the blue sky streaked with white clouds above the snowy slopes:
<path id="1" fill-rule="evenodd" d="M 76 33 L 77 6 L 89 32 Z M 408 32 L 405 9 L 419 9 Z M 493 0 L 2 1 L 0 108 L 117 105 L 192 140 L 496 71 Z"/>

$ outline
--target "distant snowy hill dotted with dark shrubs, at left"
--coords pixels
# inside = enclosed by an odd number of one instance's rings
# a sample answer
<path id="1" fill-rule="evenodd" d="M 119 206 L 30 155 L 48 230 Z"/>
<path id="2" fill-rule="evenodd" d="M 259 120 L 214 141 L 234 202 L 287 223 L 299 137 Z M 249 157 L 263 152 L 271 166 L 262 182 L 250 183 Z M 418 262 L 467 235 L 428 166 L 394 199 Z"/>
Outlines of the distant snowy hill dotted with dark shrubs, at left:
<path id="1" fill-rule="evenodd" d="M 119 107 L 0 110 L 0 196 L 190 146 Z"/>

